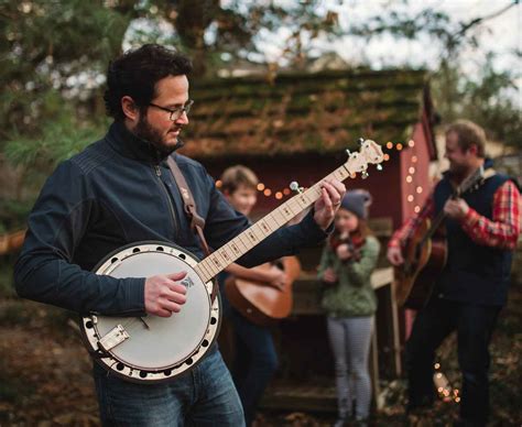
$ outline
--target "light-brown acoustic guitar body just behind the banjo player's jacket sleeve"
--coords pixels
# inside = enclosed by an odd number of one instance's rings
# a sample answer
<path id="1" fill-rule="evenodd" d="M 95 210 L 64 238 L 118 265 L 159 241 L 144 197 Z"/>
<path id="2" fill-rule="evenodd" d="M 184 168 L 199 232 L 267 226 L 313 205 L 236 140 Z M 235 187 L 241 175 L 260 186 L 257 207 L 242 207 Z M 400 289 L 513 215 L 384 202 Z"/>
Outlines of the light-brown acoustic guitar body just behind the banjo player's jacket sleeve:
<path id="1" fill-rule="evenodd" d="M 301 273 L 301 263 L 295 256 L 285 256 L 282 262 L 287 277 L 283 291 L 235 276 L 228 277 L 225 283 L 225 293 L 232 307 L 252 324 L 270 325 L 292 311 L 292 284 Z M 267 263 L 257 269 L 269 270 L 271 265 Z"/>

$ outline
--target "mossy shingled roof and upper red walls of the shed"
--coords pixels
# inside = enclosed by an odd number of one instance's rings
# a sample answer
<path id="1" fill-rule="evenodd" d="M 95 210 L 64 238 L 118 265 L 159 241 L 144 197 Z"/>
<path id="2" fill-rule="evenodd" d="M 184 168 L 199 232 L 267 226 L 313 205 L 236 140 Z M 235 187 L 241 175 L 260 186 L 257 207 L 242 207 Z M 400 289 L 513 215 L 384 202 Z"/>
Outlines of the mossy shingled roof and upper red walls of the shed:
<path id="1" fill-rule="evenodd" d="M 372 217 L 399 226 L 425 197 L 436 156 L 434 111 L 423 70 L 287 73 L 193 84 L 183 153 L 216 177 L 236 163 L 263 184 L 255 215 L 285 200 L 290 182 L 307 187 L 346 161 L 359 138 L 380 143 L 384 169 L 357 178 L 374 196 Z M 411 197 L 410 197 L 411 196 Z"/>

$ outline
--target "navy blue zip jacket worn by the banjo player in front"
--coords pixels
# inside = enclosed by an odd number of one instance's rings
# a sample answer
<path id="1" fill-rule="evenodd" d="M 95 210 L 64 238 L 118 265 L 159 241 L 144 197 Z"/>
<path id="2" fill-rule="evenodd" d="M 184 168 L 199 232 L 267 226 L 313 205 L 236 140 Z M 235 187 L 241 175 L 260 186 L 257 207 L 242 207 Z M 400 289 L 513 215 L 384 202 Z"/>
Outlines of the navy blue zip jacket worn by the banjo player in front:
<path id="1" fill-rule="evenodd" d="M 176 161 L 206 220 L 211 248 L 249 227 L 199 163 L 181 155 Z M 238 263 L 258 265 L 325 237 L 308 215 L 267 238 Z M 203 258 L 165 158 L 123 124 L 113 123 L 104 139 L 62 163 L 45 183 L 14 267 L 17 292 L 78 313 L 142 314 L 144 277 L 115 278 L 91 270 L 118 248 L 146 240 L 172 242 Z"/>

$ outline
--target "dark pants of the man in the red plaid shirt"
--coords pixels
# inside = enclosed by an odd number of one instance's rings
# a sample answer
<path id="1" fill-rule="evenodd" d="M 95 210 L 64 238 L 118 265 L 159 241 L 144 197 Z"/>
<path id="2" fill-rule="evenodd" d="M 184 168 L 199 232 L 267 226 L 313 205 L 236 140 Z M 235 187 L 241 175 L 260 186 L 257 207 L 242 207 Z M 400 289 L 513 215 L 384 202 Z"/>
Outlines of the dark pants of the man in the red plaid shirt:
<path id="1" fill-rule="evenodd" d="M 458 363 L 463 373 L 460 418 L 469 425 L 486 425 L 489 416 L 489 342 L 499 311 L 499 306 L 437 297 L 418 311 L 406 342 L 410 408 L 433 402 L 435 350 L 456 330 Z"/>

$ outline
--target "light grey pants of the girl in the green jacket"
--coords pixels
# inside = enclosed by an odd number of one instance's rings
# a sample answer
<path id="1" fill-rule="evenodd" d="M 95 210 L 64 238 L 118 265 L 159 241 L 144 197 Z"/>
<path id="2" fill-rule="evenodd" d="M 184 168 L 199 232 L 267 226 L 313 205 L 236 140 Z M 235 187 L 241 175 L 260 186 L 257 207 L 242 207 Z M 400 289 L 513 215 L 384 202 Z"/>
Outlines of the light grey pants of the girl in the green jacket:
<path id="1" fill-rule="evenodd" d="M 373 316 L 328 317 L 327 326 L 335 360 L 339 417 L 350 417 L 355 401 L 356 419 L 366 419 L 370 413 L 371 402 L 368 355 L 373 330 Z"/>

